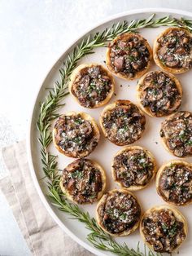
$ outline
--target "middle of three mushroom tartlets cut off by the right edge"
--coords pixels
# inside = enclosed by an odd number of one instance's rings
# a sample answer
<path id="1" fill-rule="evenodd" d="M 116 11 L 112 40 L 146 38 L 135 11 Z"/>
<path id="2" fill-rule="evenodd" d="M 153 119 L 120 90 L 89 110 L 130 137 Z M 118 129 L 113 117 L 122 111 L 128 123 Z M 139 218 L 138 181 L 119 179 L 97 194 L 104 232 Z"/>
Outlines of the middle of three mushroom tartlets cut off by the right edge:
<path id="1" fill-rule="evenodd" d="M 180 111 L 168 116 L 161 124 L 164 147 L 176 157 L 192 155 L 192 113 Z"/>

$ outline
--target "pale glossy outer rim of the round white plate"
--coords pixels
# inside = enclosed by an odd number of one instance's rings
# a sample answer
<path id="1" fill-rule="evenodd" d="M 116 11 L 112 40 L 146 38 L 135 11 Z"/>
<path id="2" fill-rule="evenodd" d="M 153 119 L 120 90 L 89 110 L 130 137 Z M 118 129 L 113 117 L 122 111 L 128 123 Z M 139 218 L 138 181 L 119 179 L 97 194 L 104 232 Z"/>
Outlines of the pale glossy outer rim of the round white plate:
<path id="1" fill-rule="evenodd" d="M 60 220 L 57 214 L 55 214 L 54 210 L 50 207 L 46 195 L 42 192 L 39 180 L 37 179 L 37 174 L 35 171 L 35 168 L 33 166 L 33 153 L 32 153 L 32 147 L 31 147 L 31 138 L 32 138 L 32 129 L 33 129 L 33 115 L 35 111 L 35 107 L 37 104 L 37 98 L 38 95 L 41 92 L 41 87 L 46 82 L 46 78 L 50 75 L 55 65 L 59 64 L 59 62 L 63 59 L 63 55 L 66 54 L 66 52 L 70 51 L 72 46 L 76 44 L 81 38 L 84 38 L 88 33 L 90 33 L 92 30 L 97 29 L 99 26 L 106 24 L 108 22 L 111 22 L 112 20 L 116 20 L 118 18 L 123 18 L 124 16 L 128 15 L 137 15 L 141 13 L 171 13 L 171 14 L 177 14 L 177 15 L 185 15 L 190 16 L 192 18 L 192 12 L 190 11 L 183 11 L 173 8 L 141 8 L 141 9 L 133 9 L 132 11 L 122 11 L 115 15 L 109 15 L 107 18 L 101 20 L 100 22 L 94 24 L 93 26 L 89 27 L 88 29 L 85 29 L 85 32 L 82 33 L 80 36 L 75 38 L 72 42 L 68 43 L 68 46 L 66 46 L 63 50 L 63 53 L 59 55 L 59 58 L 56 59 L 54 64 L 51 64 L 50 68 L 48 68 L 48 72 L 46 72 L 46 76 L 42 79 L 40 82 L 40 86 L 37 88 L 37 92 L 35 93 L 33 104 L 31 107 L 31 111 L 29 112 L 29 119 L 28 119 L 28 129 L 27 129 L 27 139 L 26 139 L 26 149 L 27 149 L 27 158 L 28 158 L 28 166 L 29 170 L 33 179 L 34 187 L 37 190 L 37 194 L 41 199 L 42 204 L 46 207 L 47 212 L 50 214 L 51 218 L 55 220 L 55 222 L 59 225 L 60 228 L 62 228 L 63 232 L 65 232 L 68 236 L 72 238 L 72 240 L 76 241 L 79 245 L 83 246 L 85 249 L 88 249 L 89 252 L 94 253 L 99 256 L 106 256 L 107 254 L 104 254 L 102 250 L 94 248 L 94 246 L 89 245 L 87 242 L 82 241 L 78 236 L 76 236 L 68 227 L 64 225 L 64 223 Z"/>

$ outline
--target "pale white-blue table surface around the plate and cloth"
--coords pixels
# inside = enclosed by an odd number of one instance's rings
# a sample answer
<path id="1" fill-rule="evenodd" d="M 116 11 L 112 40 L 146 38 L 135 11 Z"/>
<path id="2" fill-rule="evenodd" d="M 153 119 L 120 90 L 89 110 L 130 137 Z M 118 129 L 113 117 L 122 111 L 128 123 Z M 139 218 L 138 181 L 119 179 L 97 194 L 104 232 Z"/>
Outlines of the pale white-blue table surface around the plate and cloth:
<path id="1" fill-rule="evenodd" d="M 0 147 L 25 138 L 41 81 L 70 42 L 109 15 L 147 7 L 192 11 L 190 0 L 0 0 Z M 0 255 L 30 255 L 2 194 L 0 209 Z"/>

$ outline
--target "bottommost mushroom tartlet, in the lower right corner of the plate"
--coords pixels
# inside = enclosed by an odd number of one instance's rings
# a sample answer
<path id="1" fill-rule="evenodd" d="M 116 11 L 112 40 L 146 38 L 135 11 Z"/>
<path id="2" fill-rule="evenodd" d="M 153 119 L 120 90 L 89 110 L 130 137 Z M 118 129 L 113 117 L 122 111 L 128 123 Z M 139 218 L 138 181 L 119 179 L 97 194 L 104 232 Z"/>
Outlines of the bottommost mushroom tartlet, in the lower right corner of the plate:
<path id="1" fill-rule="evenodd" d="M 142 216 L 140 233 L 152 250 L 171 254 L 185 240 L 187 223 L 177 209 L 168 205 L 155 206 Z"/>

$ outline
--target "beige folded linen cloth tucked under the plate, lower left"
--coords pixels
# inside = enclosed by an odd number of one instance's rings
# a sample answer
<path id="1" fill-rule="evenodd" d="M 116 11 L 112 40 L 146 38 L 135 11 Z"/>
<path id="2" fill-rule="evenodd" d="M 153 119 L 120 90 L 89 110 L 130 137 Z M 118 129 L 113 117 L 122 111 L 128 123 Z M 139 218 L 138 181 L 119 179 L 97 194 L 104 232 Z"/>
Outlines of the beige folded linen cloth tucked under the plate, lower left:
<path id="1" fill-rule="evenodd" d="M 28 167 L 25 142 L 2 148 L 9 174 L 0 180 L 20 230 L 33 255 L 94 255 L 66 235 L 46 211 Z"/>

